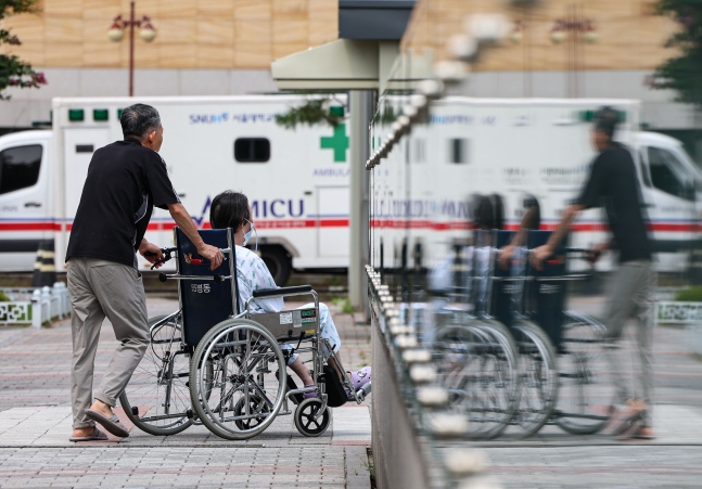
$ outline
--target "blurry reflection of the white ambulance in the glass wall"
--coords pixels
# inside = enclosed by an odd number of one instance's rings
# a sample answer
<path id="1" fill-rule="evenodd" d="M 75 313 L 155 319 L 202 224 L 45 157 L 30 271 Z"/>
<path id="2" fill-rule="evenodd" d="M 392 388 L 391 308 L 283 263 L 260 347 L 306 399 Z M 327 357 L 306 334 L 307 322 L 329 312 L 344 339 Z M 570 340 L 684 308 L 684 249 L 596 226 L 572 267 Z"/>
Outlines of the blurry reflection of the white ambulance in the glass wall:
<path id="1" fill-rule="evenodd" d="M 381 104 L 372 125 L 375 149 L 392 124 L 384 123 L 390 118 L 383 111 L 397 113 L 401 105 L 399 98 Z M 591 119 L 604 105 L 621 114 L 615 139 L 633 152 L 656 267 L 684 271 L 700 243 L 702 172 L 679 141 L 638 131 L 640 102 L 588 99 L 449 96 L 433 102 L 429 124 L 414 125 L 372 170 L 374 266 L 401 267 L 403 259 L 411 266 L 412 254 L 425 268 L 441 262 L 451 244 L 464 239 L 472 217 L 468 202 L 478 194 L 501 196 L 507 229 L 518 229 L 525 196 L 535 197 L 541 229 L 554 229 L 589 172 L 596 156 Z M 603 241 L 603 217 L 600 209 L 584 213 L 573 226 L 571 245 Z M 600 262 L 602 269 L 610 266 Z"/>

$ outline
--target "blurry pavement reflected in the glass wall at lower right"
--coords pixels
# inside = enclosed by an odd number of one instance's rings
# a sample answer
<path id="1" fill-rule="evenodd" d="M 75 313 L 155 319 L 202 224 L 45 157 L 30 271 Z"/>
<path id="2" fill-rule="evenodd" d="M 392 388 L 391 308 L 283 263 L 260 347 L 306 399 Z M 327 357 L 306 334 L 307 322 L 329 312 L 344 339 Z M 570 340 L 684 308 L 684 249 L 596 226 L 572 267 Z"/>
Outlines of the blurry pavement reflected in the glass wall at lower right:
<path id="1" fill-rule="evenodd" d="M 602 297 L 580 297 L 571 308 L 601 317 L 603 304 Z M 629 358 L 631 333 L 623 346 Z M 488 475 L 503 488 L 700 488 L 702 361 L 686 343 L 682 329 L 655 329 L 654 441 L 621 442 L 607 433 L 578 437 L 546 426 L 528 439 L 510 427 L 496 440 L 470 446 L 485 451 Z M 629 360 L 628 368 L 633 364 Z M 446 456 L 457 446 L 465 443 L 445 445 L 439 453 Z"/>

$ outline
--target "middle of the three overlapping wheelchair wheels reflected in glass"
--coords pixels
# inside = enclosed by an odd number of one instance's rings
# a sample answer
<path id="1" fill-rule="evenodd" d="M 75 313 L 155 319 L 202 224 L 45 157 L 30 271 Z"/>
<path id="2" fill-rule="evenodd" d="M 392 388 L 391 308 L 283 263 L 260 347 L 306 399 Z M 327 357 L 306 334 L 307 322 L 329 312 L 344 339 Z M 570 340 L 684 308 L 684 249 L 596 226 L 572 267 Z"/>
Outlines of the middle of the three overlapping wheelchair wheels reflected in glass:
<path id="1" fill-rule="evenodd" d="M 556 350 L 544 330 L 529 321 L 513 327 L 519 351 L 520 406 L 516 423 L 528 437 L 551 419 L 558 401 L 558 362 Z"/>

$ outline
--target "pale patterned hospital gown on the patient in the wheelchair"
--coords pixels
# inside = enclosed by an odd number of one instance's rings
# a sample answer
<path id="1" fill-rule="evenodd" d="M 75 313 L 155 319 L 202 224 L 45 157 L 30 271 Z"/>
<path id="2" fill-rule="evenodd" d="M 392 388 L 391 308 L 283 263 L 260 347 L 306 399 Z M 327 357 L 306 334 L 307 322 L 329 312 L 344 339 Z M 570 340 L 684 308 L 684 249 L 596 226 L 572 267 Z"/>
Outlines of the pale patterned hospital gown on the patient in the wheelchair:
<path id="1" fill-rule="evenodd" d="M 239 298 L 242 308 L 246 304 L 246 300 L 254 294 L 254 291 L 260 288 L 278 288 L 264 260 L 254 252 L 243 246 L 237 246 L 237 280 L 239 281 Z M 308 307 L 315 307 L 315 305 L 309 303 L 302 308 Z M 254 299 L 251 303 L 251 311 L 254 313 L 278 312 L 283 309 L 285 309 L 285 303 L 282 297 Z M 319 304 L 319 335 L 329 340 L 334 352 L 339 351 L 342 342 L 329 307 L 323 303 Z M 281 348 L 291 349 L 292 346 L 282 345 Z M 331 355 L 323 345 L 322 350 L 326 357 Z M 292 355 L 289 364 L 294 362 L 296 358 L 297 353 Z"/>

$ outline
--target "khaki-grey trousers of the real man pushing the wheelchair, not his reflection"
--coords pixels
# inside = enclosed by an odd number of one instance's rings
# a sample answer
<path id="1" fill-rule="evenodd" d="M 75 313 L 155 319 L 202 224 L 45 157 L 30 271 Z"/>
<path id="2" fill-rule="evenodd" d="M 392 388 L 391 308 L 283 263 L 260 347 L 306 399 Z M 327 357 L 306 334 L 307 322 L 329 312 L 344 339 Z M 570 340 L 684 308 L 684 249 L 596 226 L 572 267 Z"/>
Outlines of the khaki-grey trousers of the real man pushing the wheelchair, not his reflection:
<path id="1" fill-rule="evenodd" d="M 82 428 L 95 424 L 85 411 L 93 399 L 93 370 L 102 321 L 105 317 L 110 320 L 119 346 L 94 399 L 114 408 L 149 345 L 146 298 L 141 273 L 114 261 L 71 258 L 67 279 L 73 308 L 73 427 Z"/>

